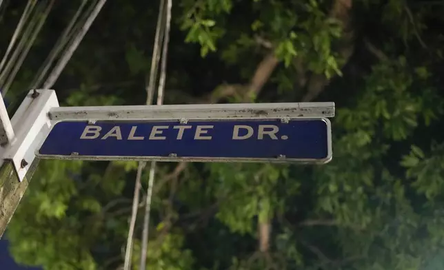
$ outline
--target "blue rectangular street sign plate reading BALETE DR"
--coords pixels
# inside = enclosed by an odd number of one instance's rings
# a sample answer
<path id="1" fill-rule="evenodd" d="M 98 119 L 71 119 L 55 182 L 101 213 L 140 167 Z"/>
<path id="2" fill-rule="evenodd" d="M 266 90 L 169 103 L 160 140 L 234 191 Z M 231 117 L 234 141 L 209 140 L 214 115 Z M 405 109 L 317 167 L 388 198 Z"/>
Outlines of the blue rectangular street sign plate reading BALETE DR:
<path id="1" fill-rule="evenodd" d="M 332 157 L 327 118 L 188 121 L 62 121 L 40 158 L 92 160 L 305 161 Z"/>

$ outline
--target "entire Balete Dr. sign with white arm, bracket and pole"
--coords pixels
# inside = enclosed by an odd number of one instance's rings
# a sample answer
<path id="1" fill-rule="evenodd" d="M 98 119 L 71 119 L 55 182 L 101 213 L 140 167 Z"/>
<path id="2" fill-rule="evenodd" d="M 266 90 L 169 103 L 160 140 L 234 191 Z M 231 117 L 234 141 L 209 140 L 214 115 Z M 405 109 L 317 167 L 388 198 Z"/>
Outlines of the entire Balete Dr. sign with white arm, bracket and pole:
<path id="1" fill-rule="evenodd" d="M 328 117 L 334 103 L 59 107 L 54 90 L 31 90 L 10 119 L 0 95 L 0 203 L 6 205 L 0 230 L 28 186 L 36 157 L 327 163 Z"/>

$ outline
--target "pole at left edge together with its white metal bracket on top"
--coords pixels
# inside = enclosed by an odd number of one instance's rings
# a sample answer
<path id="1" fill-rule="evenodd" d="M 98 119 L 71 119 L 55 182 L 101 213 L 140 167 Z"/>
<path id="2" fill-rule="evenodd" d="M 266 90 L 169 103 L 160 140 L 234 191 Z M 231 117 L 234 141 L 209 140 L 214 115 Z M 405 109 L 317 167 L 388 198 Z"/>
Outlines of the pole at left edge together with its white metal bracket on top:
<path id="1" fill-rule="evenodd" d="M 10 119 L 0 96 L 0 237 L 37 168 L 35 152 L 50 131 L 54 107 L 54 90 L 31 90 Z"/>

